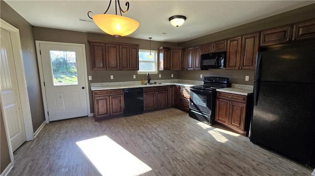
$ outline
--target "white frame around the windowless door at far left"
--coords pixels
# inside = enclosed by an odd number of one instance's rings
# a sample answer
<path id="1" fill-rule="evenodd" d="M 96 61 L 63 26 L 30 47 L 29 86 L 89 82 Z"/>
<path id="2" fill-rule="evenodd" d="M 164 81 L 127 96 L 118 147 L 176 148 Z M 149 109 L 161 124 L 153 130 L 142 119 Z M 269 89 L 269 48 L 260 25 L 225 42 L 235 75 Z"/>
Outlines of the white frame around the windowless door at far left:
<path id="1" fill-rule="evenodd" d="M 22 47 L 20 39 L 20 31 L 18 28 L 10 25 L 6 21 L 0 19 L 0 27 L 10 32 L 12 51 L 14 57 L 14 65 L 16 70 L 16 77 L 18 82 L 18 89 L 20 94 L 20 101 L 22 107 L 22 115 L 25 127 L 26 141 L 31 141 L 34 139 L 33 124 L 32 124 L 32 115 L 31 115 L 31 106 L 29 101 L 28 88 L 26 83 L 25 69 L 22 57 Z M 3 115 L 3 121 L 5 126 L 5 132 L 7 133 L 7 140 L 10 151 L 11 162 L 14 164 L 13 151 L 8 138 L 8 124 L 6 123 L 5 117 Z"/>

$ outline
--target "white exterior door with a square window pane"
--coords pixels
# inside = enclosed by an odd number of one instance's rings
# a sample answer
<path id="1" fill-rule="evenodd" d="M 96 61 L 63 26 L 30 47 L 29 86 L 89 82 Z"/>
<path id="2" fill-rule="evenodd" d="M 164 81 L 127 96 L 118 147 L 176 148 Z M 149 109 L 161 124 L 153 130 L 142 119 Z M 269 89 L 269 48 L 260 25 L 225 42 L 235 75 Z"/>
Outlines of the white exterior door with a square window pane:
<path id="1" fill-rule="evenodd" d="M 39 44 L 49 121 L 88 116 L 84 47 Z"/>

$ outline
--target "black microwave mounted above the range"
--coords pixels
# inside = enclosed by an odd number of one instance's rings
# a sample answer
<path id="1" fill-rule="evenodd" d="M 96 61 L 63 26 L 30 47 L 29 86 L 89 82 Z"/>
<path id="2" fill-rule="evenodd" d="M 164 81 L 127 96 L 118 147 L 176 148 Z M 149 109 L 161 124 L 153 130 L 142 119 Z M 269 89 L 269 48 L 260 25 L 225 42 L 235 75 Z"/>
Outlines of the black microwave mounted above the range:
<path id="1" fill-rule="evenodd" d="M 225 68 L 225 56 L 226 51 L 201 54 L 200 56 L 201 70 Z"/>

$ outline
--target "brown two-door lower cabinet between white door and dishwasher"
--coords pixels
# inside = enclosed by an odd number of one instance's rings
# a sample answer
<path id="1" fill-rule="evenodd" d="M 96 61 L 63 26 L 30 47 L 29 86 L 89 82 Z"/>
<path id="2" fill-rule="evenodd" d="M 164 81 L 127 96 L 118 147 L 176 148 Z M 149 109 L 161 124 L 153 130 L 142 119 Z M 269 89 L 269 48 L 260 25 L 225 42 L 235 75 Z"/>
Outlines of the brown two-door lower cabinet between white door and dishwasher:
<path id="1" fill-rule="evenodd" d="M 124 115 L 123 89 L 93 91 L 95 121 Z"/>

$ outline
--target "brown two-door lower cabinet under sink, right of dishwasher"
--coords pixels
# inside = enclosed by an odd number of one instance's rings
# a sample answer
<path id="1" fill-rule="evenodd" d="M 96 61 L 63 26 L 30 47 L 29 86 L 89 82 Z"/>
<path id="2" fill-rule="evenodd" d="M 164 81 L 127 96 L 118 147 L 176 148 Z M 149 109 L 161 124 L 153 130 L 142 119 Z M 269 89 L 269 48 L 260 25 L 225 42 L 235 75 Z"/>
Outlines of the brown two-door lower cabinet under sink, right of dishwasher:
<path id="1" fill-rule="evenodd" d="M 143 89 L 144 111 L 163 109 L 168 106 L 168 86 Z"/>

